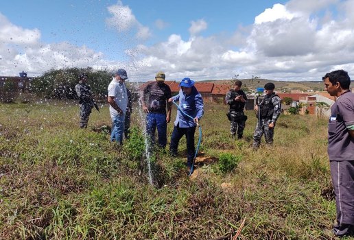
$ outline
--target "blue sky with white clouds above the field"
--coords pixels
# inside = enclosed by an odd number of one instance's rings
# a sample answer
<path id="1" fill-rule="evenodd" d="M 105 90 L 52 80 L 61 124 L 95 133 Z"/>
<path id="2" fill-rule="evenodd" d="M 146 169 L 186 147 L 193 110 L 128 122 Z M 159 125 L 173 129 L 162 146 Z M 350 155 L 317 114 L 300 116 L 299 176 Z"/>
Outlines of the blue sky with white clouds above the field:
<path id="1" fill-rule="evenodd" d="M 354 0 L 0 1 L 0 75 L 70 67 L 130 81 L 354 79 Z"/>

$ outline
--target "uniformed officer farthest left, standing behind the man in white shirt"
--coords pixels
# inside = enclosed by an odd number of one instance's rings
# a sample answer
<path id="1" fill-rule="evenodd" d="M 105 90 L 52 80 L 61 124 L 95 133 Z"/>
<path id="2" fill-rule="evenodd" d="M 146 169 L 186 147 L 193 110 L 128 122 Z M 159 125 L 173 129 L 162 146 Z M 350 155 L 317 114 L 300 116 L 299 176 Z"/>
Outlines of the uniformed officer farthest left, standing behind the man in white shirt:
<path id="1" fill-rule="evenodd" d="M 91 88 L 86 84 L 88 76 L 86 73 L 81 73 L 79 83 L 75 86 L 76 94 L 79 97 L 80 105 L 80 128 L 87 128 L 88 117 L 90 117 L 93 108 L 93 96 Z"/>

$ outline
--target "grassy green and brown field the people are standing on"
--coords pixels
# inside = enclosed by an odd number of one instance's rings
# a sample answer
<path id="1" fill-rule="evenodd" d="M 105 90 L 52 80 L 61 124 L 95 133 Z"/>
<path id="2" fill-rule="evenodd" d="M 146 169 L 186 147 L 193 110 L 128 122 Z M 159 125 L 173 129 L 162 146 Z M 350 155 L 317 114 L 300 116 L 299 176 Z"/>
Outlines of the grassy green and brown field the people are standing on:
<path id="1" fill-rule="evenodd" d="M 245 219 L 238 239 L 332 239 L 327 120 L 282 115 L 255 152 L 254 112 L 237 141 L 226 111 L 207 104 L 191 178 L 184 139 L 177 158 L 156 151 L 154 187 L 138 110 L 119 147 L 106 105 L 86 130 L 73 101 L 0 105 L 0 239 L 231 239 Z"/>

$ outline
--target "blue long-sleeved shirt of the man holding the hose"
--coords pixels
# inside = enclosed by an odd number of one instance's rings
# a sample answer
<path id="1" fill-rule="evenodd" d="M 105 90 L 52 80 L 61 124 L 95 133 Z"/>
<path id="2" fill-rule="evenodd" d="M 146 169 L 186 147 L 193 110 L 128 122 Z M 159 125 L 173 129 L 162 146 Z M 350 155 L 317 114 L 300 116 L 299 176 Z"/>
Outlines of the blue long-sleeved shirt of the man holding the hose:
<path id="1" fill-rule="evenodd" d="M 178 95 L 172 97 L 174 101 L 179 101 L 179 106 L 187 115 L 195 118 L 198 117 L 200 119 L 204 114 L 204 104 L 202 95 L 197 91 L 195 86 L 192 86 L 192 92 L 189 95 L 185 95 L 182 90 L 178 93 Z M 180 110 L 177 110 L 176 121 L 174 121 L 174 125 L 178 125 L 180 128 L 191 128 L 196 126 L 193 119 L 187 117 L 182 114 Z"/>

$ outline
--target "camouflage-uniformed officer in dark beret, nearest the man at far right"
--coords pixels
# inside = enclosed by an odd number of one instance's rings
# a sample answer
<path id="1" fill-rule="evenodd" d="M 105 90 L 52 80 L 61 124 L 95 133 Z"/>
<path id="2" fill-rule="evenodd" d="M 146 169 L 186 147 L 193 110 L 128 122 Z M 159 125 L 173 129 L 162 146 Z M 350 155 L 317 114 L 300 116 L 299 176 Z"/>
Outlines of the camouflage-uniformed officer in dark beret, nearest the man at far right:
<path id="1" fill-rule="evenodd" d="M 266 89 L 266 97 L 264 97 L 261 103 L 255 106 L 257 111 L 257 126 L 255 134 L 253 135 L 253 148 L 258 149 L 261 144 L 261 137 L 264 133 L 264 138 L 268 145 L 273 143 L 274 126 L 276 120 L 281 114 L 281 99 L 274 93 L 274 84 L 268 82 L 264 85 Z"/>

